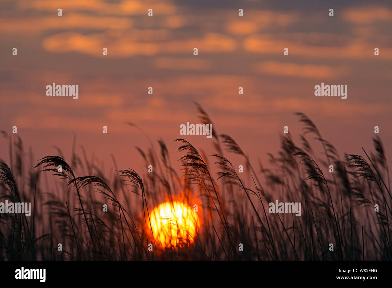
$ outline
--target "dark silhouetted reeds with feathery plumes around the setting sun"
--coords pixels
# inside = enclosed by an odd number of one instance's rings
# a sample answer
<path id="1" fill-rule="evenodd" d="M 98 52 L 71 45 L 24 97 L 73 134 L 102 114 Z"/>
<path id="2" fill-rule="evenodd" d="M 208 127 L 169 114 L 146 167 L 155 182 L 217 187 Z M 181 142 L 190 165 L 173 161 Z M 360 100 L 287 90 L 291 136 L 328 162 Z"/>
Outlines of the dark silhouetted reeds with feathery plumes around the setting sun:
<path id="1" fill-rule="evenodd" d="M 201 106 L 197 108 L 201 122 L 212 123 Z M 76 140 L 69 162 L 59 148 L 58 155 L 34 161 L 18 136 L 2 131 L 10 160 L 0 162 L 0 202 L 32 202 L 33 212 L 31 217 L 0 214 L 0 259 L 391 260 L 392 196 L 381 140 L 373 139 L 374 151 L 341 160 L 316 125 L 303 113 L 296 115 L 303 124 L 301 143 L 282 135 L 279 153 L 269 154 L 269 169 L 254 168 L 237 142 L 216 130 L 216 151 L 210 156 L 176 139 L 183 175 L 172 167 L 162 140 L 160 151 L 151 141 L 149 148 L 137 148 L 154 173 L 119 169 L 113 157 L 113 172 L 105 175 L 99 160 L 89 160 L 84 148 L 82 157 L 76 154 Z M 321 158 L 309 135 L 323 150 Z M 247 173 L 238 173 L 230 153 L 243 157 Z M 334 173 L 328 172 L 330 165 Z M 149 213 L 159 203 L 178 198 L 180 191 L 185 202 L 201 202 L 198 236 L 188 247 L 154 246 L 149 251 L 149 243 L 154 243 Z M 268 203 L 275 200 L 301 202 L 302 215 L 270 214 Z M 107 212 L 103 204 L 109 206 Z"/>

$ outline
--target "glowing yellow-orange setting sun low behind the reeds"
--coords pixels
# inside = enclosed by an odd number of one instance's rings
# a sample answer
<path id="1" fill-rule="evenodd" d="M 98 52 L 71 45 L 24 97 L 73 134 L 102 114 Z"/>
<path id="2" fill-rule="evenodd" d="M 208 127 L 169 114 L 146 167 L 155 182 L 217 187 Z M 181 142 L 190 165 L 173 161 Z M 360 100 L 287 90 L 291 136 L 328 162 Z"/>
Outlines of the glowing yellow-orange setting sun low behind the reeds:
<path id="1" fill-rule="evenodd" d="M 198 213 L 178 201 L 159 204 L 151 211 L 150 221 L 149 230 L 162 248 L 188 246 L 200 228 Z"/>

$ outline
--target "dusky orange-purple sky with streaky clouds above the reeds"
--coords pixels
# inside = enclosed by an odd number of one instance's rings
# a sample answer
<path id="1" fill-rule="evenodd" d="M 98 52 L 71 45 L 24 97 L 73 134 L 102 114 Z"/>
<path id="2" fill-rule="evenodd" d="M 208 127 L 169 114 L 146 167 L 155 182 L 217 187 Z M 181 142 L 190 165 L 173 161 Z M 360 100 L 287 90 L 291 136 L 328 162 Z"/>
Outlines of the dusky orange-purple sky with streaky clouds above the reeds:
<path id="1" fill-rule="evenodd" d="M 138 171 L 145 135 L 173 160 L 180 137 L 215 153 L 213 139 L 179 133 L 200 123 L 197 102 L 255 163 L 278 151 L 284 126 L 300 145 L 295 112 L 342 156 L 370 150 L 379 126 L 392 159 L 391 24 L 390 1 L 0 0 L 0 130 L 17 126 L 36 159 L 54 146 L 69 156 L 76 137 L 105 169 L 113 154 Z M 79 85 L 78 99 L 47 96 L 52 83 Z M 321 83 L 347 85 L 347 99 L 315 96 Z"/>

